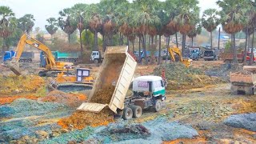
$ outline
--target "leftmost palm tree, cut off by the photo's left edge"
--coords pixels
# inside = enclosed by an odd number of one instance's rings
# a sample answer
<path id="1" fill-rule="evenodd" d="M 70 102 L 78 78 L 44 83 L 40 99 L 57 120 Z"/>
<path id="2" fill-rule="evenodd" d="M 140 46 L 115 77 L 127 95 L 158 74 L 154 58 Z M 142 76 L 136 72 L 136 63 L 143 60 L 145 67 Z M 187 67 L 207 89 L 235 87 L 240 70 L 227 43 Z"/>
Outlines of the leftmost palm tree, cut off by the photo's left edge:
<path id="1" fill-rule="evenodd" d="M 6 38 L 13 33 L 17 27 L 17 19 L 8 6 L 0 6 L 0 37 L 3 38 L 2 50 L 6 50 Z"/>

